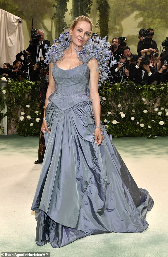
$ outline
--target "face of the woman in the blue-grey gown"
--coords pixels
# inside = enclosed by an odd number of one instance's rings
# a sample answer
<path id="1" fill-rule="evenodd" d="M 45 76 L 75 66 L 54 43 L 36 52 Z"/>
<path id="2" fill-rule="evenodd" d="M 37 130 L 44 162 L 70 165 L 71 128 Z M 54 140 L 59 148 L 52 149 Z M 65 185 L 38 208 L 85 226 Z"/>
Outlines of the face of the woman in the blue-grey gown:
<path id="1" fill-rule="evenodd" d="M 78 21 L 75 28 L 70 29 L 71 41 L 78 48 L 82 48 L 88 41 L 91 33 L 91 26 L 88 21 Z"/>

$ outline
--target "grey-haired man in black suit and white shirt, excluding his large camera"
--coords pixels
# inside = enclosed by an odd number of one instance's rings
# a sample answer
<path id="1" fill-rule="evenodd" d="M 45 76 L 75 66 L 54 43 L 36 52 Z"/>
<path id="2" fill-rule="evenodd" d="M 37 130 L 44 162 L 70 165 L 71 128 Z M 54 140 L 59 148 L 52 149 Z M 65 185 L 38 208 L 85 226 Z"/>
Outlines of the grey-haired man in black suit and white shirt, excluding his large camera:
<path id="1" fill-rule="evenodd" d="M 32 38 L 30 38 L 30 44 L 26 49 L 26 51 L 31 53 L 32 62 L 40 61 L 40 57 L 42 56 L 45 58 L 47 49 L 44 49 L 44 46 L 47 45 L 50 47 L 51 45 L 49 40 L 44 39 L 44 31 L 42 29 L 38 29 L 37 34 L 40 34 L 39 45 L 33 45 Z"/>

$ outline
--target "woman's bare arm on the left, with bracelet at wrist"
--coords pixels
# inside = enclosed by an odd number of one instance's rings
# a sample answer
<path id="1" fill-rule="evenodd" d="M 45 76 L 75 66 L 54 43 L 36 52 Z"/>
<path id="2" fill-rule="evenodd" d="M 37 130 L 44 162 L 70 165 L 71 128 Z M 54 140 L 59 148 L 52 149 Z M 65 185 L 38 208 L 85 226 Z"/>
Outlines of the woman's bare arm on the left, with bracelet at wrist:
<path id="1" fill-rule="evenodd" d="M 46 93 L 46 98 L 45 98 L 45 107 L 44 107 L 44 116 L 43 118 L 45 118 L 45 108 L 47 107 L 48 103 L 49 103 L 49 96 L 50 94 L 54 93 L 55 89 L 56 89 L 56 85 L 55 85 L 55 81 L 54 78 L 52 76 L 52 67 L 53 67 L 53 62 L 49 64 L 49 84 L 48 84 L 48 88 L 47 88 L 47 93 Z M 42 126 L 41 126 L 41 131 L 44 133 L 45 131 L 47 131 L 48 133 L 50 133 L 49 129 L 48 129 L 48 124 L 46 120 L 43 120 L 42 122 Z"/>

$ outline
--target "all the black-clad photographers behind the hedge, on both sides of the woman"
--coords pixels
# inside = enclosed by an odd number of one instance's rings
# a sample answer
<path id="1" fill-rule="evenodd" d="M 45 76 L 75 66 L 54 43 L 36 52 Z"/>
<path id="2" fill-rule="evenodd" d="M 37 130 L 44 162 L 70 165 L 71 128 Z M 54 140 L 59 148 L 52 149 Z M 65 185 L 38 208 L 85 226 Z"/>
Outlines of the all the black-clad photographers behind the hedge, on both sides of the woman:
<path id="1" fill-rule="evenodd" d="M 153 35 L 152 28 L 140 29 L 138 54 L 131 53 L 126 44 L 127 38 L 112 39 L 112 45 L 109 47 L 112 55 L 109 62 L 111 84 L 121 83 L 123 80 L 131 80 L 141 85 L 168 82 L 168 37 L 162 42 L 163 50 L 159 56 Z M 92 37 L 96 36 L 97 34 L 92 34 Z M 20 81 L 23 78 L 32 81 L 40 80 L 41 70 L 45 67 L 46 46 L 50 47 L 50 41 L 44 39 L 44 31 L 31 30 L 28 48 L 16 55 L 13 67 L 7 62 L 4 63 L 3 68 L 0 68 L 0 74 Z"/>

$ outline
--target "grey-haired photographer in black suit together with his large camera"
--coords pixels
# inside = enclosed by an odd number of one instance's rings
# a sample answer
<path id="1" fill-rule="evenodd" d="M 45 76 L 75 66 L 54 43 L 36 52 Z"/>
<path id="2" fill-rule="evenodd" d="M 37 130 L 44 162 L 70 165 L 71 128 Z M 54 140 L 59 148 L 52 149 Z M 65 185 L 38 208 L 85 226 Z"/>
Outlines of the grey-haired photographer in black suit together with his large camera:
<path id="1" fill-rule="evenodd" d="M 31 53 L 32 62 L 40 61 L 40 57 L 45 58 L 47 49 L 45 49 L 44 46 L 47 45 L 50 47 L 51 45 L 49 40 L 44 39 L 44 31 L 42 29 L 38 29 L 37 33 L 35 33 L 35 31 L 36 30 L 31 33 L 31 38 L 29 41 L 30 44 L 26 49 L 26 51 Z"/>

